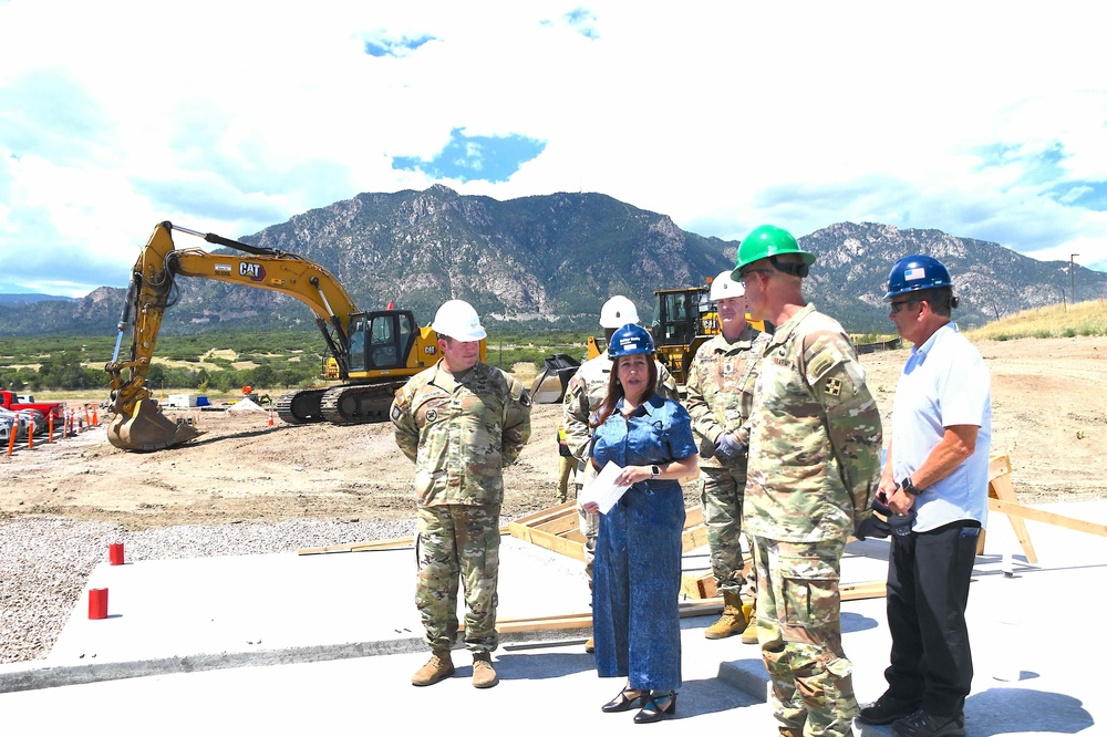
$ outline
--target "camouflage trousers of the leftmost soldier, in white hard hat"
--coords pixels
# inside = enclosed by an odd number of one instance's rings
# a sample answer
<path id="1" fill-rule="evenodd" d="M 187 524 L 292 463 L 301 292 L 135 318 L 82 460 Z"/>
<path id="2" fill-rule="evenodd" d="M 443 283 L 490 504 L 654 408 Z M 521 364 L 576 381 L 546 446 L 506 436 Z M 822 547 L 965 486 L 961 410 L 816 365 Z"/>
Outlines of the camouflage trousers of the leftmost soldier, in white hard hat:
<path id="1" fill-rule="evenodd" d="M 465 645 L 494 651 L 499 578 L 499 505 L 418 508 L 415 605 L 432 650 L 457 639 L 457 587 L 465 587 Z"/>

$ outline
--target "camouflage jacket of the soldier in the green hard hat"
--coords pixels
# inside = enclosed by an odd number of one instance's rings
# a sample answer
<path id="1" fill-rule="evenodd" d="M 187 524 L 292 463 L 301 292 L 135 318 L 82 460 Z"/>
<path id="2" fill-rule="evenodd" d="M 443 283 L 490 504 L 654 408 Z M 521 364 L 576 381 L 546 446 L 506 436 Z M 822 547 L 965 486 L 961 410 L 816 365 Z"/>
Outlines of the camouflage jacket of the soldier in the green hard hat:
<path id="1" fill-rule="evenodd" d="M 765 346 L 751 415 L 745 528 L 789 542 L 845 540 L 871 513 L 881 428 L 837 321 L 808 304 Z"/>

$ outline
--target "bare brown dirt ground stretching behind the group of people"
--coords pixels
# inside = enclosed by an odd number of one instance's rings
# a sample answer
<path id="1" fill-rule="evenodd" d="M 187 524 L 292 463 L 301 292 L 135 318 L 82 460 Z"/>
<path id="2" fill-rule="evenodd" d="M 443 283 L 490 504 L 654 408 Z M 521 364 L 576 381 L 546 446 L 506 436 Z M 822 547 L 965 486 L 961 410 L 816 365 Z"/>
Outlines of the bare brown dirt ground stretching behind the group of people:
<path id="1" fill-rule="evenodd" d="M 1007 454 L 1024 501 L 1107 495 L 1107 338 L 977 344 L 992 372 L 993 454 Z M 886 422 L 907 351 L 867 355 Z M 272 394 L 272 392 L 270 392 Z M 273 394 L 276 396 L 276 394 Z M 49 398 L 49 397 L 40 397 Z M 90 397 L 99 402 L 104 397 Z M 410 519 L 414 471 L 392 425 L 291 426 L 268 412 L 190 411 L 199 438 L 157 453 L 112 447 L 101 427 L 0 450 L 0 519 L 50 516 L 127 529 L 292 518 Z M 560 407 L 537 405 L 534 434 L 505 474 L 504 515 L 556 500 Z M 170 415 L 172 416 L 172 415 Z"/>

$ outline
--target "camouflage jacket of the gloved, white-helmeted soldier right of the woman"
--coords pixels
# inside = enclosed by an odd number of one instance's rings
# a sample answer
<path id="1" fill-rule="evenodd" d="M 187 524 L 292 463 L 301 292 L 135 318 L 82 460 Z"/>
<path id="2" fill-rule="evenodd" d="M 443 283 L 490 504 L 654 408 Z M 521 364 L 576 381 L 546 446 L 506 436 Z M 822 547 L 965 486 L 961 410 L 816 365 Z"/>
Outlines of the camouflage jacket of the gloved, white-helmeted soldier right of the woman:
<path id="1" fill-rule="evenodd" d="M 692 416 L 701 466 L 722 467 L 713 457 L 720 433 L 731 433 L 739 443 L 749 445 L 747 421 L 754 403 L 757 362 L 769 338 L 746 325 L 733 343 L 718 334 L 696 351 L 689 366 L 684 406 Z M 743 458 L 731 465 L 745 467 L 746 461 Z"/>

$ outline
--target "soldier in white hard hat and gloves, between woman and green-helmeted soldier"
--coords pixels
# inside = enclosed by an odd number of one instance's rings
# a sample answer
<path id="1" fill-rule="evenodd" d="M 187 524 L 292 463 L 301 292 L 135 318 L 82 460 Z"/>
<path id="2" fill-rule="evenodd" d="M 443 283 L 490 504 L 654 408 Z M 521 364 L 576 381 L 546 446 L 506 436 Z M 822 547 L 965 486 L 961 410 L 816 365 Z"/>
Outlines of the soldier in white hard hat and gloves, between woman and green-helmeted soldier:
<path id="1" fill-rule="evenodd" d="M 746 488 L 747 418 L 753 406 L 757 362 L 769 335 L 746 322 L 745 289 L 730 271 L 711 283 L 721 332 L 696 351 L 689 366 L 687 398 L 692 429 L 700 443 L 700 502 L 715 587 L 723 615 L 704 631 L 708 640 L 742 634 L 757 642 L 753 624 L 757 583 L 754 567 L 742 575 L 742 501 Z M 746 602 L 742 603 L 742 594 Z"/>

